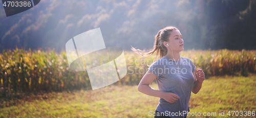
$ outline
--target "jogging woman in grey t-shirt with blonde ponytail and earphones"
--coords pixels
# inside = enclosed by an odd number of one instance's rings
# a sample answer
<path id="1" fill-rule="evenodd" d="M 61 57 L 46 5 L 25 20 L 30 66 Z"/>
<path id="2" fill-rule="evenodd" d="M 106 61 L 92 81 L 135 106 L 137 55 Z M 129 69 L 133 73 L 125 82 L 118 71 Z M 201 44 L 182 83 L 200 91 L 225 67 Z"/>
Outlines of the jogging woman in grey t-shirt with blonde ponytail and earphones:
<path id="1" fill-rule="evenodd" d="M 205 80 L 202 69 L 196 69 L 189 58 L 180 56 L 183 47 L 178 28 L 167 26 L 155 36 L 154 48 L 150 52 L 143 53 L 133 48 L 146 56 L 156 52 L 160 58 L 148 68 L 138 85 L 139 92 L 160 98 L 155 117 L 186 117 L 191 92 L 197 94 Z M 150 87 L 155 79 L 158 90 Z"/>

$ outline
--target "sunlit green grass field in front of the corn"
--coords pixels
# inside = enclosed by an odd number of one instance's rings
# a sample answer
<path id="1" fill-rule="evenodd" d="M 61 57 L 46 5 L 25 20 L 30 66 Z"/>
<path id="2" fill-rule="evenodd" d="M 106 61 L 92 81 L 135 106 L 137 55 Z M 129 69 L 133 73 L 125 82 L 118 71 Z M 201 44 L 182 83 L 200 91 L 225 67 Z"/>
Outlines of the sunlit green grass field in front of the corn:
<path id="1" fill-rule="evenodd" d="M 255 112 L 255 81 L 255 75 L 206 79 L 201 91 L 191 94 L 190 112 L 197 112 L 197 115 L 216 112 L 217 116 L 188 117 L 231 117 L 228 111 Z M 151 86 L 157 88 L 156 83 Z M 49 93 L 47 96 L 48 99 L 30 96 L 14 106 L 1 108 L 0 117 L 153 117 L 148 112 L 154 111 L 158 104 L 158 98 L 139 93 L 136 85 L 110 85 L 94 91 Z M 225 111 L 225 116 L 219 116 L 220 111 Z"/>

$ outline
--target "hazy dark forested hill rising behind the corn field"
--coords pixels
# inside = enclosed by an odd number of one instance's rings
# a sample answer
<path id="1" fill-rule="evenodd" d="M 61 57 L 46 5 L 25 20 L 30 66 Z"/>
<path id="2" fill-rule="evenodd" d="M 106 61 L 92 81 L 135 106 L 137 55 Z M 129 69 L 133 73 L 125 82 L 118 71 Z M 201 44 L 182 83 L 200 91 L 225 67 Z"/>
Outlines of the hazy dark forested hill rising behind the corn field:
<path id="1" fill-rule="evenodd" d="M 0 50 L 59 51 L 97 27 L 106 46 L 149 49 L 168 25 L 180 28 L 185 49 L 256 49 L 256 0 L 41 0 L 9 17 L 1 3 Z"/>

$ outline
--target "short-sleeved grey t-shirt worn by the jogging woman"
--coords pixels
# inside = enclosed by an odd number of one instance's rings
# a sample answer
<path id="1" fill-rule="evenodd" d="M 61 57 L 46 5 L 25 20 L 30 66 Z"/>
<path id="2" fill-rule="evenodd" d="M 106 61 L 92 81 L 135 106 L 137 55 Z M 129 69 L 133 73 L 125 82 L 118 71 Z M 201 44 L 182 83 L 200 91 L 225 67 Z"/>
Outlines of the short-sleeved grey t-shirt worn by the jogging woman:
<path id="1" fill-rule="evenodd" d="M 196 66 L 191 60 L 182 56 L 179 61 L 173 61 L 163 56 L 148 68 L 157 76 L 156 81 L 160 91 L 175 93 L 180 97 L 174 103 L 169 103 L 160 98 L 156 108 L 157 111 L 174 118 L 187 115 L 191 88 L 195 81 L 193 75 L 195 69 Z M 180 116 L 181 114 L 184 116 Z"/>

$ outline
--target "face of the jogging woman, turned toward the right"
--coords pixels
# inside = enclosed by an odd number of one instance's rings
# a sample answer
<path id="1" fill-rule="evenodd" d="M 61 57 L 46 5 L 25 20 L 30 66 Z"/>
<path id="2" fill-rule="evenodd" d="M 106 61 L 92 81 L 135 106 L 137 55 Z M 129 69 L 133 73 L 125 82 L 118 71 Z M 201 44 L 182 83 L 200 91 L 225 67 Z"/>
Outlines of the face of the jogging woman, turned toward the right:
<path id="1" fill-rule="evenodd" d="M 169 41 L 167 41 L 166 43 L 170 46 L 170 48 L 173 49 L 174 52 L 180 52 L 184 50 L 184 41 L 182 39 L 180 31 L 178 30 L 172 31 L 170 33 Z"/>

